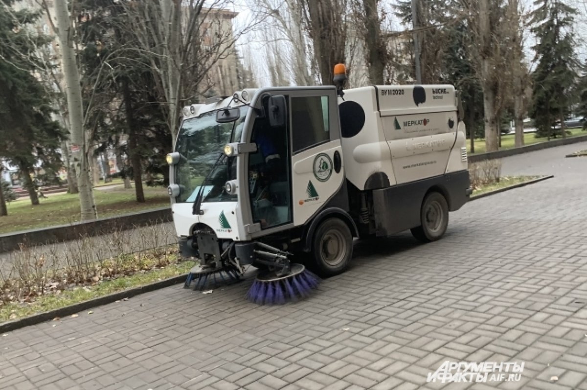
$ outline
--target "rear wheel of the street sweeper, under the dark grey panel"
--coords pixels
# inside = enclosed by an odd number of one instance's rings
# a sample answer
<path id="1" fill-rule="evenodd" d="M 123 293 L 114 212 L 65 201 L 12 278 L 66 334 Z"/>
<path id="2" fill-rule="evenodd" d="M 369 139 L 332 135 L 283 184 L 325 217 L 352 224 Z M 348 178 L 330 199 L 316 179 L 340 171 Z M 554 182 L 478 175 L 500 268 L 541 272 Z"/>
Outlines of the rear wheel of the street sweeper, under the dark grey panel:
<path id="1" fill-rule="evenodd" d="M 448 204 L 442 194 L 427 194 L 420 209 L 420 223 L 420 226 L 410 229 L 416 240 L 431 243 L 444 236 L 448 226 Z"/>

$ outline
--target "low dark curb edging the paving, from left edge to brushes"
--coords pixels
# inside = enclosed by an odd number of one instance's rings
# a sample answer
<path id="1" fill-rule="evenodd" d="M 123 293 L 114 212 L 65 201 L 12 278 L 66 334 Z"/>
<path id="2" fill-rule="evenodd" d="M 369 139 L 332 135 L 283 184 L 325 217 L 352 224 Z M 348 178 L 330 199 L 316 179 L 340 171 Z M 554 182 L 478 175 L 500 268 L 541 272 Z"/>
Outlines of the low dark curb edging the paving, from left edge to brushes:
<path id="1" fill-rule="evenodd" d="M 51 321 L 55 317 L 63 318 L 80 311 L 123 300 L 124 298 L 131 298 L 135 295 L 143 294 L 144 292 L 160 290 L 161 288 L 170 287 L 178 283 L 184 283 L 185 278 L 187 278 L 187 274 L 178 275 L 154 283 L 130 288 L 129 290 L 114 292 L 110 295 L 104 295 L 103 297 L 93 298 L 89 301 L 79 302 L 75 305 L 70 305 L 55 310 L 29 315 L 29 317 L 18 318 L 12 321 L 2 322 L 0 323 L 0 333 L 11 332 L 23 327 L 28 327 L 30 325 L 36 325 L 40 324 L 41 322 Z"/>

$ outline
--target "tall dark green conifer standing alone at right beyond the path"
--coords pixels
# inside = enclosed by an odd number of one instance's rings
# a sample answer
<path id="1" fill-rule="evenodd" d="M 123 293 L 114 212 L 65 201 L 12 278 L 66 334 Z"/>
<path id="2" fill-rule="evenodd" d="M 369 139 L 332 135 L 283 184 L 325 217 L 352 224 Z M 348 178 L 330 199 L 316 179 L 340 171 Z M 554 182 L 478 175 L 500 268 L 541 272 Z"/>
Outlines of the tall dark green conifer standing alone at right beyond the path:
<path id="1" fill-rule="evenodd" d="M 537 125 L 537 136 L 553 135 L 559 120 L 565 136 L 564 120 L 570 104 L 569 90 L 577 77 L 578 60 L 572 33 L 576 10 L 560 0 L 535 0 L 532 32 L 538 38 L 534 46 L 537 68 L 532 73 L 532 106 L 529 116 Z M 556 134 L 554 134 L 556 137 Z"/>

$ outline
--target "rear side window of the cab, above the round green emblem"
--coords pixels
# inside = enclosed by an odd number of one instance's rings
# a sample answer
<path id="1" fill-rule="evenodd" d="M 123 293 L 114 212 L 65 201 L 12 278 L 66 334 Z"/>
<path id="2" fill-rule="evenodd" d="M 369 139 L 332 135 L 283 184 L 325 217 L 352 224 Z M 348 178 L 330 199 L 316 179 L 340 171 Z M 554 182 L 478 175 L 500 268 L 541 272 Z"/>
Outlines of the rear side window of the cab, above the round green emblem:
<path id="1" fill-rule="evenodd" d="M 291 117 L 294 153 L 330 140 L 328 96 L 292 97 Z"/>

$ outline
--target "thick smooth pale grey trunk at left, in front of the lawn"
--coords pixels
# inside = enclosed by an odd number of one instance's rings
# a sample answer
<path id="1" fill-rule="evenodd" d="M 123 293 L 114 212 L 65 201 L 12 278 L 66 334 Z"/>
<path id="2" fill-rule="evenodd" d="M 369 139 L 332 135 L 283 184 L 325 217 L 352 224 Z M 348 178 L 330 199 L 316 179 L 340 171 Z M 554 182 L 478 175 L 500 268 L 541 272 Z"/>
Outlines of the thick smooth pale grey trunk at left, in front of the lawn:
<path id="1" fill-rule="evenodd" d="M 70 135 L 72 140 L 73 158 L 79 189 L 80 214 L 82 220 L 91 220 L 98 217 L 96 203 L 87 161 L 87 142 L 83 131 L 82 92 L 80 89 L 79 70 L 77 69 L 76 53 L 73 48 L 73 29 L 69 21 L 68 4 L 66 0 L 55 0 L 55 14 L 57 16 L 58 36 L 62 53 L 63 75 L 66 81 Z"/>

